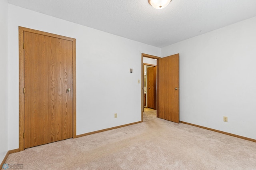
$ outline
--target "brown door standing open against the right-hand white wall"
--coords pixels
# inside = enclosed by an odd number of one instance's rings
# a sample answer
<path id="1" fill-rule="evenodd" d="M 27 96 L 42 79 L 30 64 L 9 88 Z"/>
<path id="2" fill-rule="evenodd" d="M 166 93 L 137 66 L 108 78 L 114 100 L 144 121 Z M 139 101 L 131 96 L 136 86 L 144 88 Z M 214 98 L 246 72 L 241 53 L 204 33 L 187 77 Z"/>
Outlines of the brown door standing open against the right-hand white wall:
<path id="1" fill-rule="evenodd" d="M 158 117 L 179 123 L 179 54 L 158 59 Z"/>

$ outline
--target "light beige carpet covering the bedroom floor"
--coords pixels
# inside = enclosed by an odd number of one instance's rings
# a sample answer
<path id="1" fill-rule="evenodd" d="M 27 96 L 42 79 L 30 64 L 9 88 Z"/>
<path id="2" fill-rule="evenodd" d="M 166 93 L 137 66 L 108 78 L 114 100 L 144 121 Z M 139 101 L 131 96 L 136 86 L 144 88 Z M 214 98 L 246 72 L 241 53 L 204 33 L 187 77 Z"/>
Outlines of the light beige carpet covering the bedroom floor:
<path id="1" fill-rule="evenodd" d="M 145 116 L 136 125 L 10 154 L 6 163 L 28 170 L 256 170 L 255 142 Z"/>

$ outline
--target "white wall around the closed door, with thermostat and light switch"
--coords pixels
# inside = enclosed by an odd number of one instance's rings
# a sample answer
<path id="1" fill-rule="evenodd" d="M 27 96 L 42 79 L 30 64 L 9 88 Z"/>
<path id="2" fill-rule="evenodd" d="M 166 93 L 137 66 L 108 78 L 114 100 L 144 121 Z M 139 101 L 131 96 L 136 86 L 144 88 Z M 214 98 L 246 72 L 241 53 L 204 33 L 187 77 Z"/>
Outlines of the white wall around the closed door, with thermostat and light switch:
<path id="1" fill-rule="evenodd" d="M 141 53 L 159 56 L 160 48 L 11 4 L 8 10 L 9 149 L 18 148 L 18 26 L 76 38 L 77 134 L 141 121 Z"/>

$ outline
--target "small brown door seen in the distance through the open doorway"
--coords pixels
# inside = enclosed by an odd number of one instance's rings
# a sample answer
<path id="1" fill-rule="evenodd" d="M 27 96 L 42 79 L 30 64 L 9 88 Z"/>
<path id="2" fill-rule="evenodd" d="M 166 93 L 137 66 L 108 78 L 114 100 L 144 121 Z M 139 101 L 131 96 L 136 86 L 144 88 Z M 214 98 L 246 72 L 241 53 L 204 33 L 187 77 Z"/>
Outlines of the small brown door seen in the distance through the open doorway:
<path id="1" fill-rule="evenodd" d="M 156 67 L 148 67 L 148 108 L 156 109 Z"/>

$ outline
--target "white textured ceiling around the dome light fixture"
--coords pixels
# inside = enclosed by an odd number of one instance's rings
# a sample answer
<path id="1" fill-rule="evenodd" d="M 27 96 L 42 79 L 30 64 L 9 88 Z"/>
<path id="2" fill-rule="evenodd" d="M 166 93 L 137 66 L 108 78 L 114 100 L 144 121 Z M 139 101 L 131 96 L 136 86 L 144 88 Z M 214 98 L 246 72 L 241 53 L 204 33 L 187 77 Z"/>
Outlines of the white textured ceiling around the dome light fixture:
<path id="1" fill-rule="evenodd" d="M 156 10 L 148 0 L 9 0 L 10 4 L 165 47 L 256 16 L 256 0 L 172 0 Z"/>

